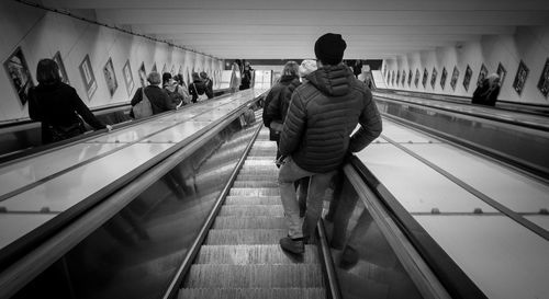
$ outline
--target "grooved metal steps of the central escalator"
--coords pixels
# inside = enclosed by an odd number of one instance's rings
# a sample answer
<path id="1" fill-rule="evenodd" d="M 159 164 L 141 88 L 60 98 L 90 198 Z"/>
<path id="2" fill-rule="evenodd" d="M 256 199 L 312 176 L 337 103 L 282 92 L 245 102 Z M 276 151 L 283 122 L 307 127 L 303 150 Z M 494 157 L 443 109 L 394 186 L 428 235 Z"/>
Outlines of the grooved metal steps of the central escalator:
<path id="1" fill-rule="evenodd" d="M 276 152 L 261 128 L 178 298 L 326 298 L 317 248 L 294 256 L 278 244 L 288 230 Z"/>

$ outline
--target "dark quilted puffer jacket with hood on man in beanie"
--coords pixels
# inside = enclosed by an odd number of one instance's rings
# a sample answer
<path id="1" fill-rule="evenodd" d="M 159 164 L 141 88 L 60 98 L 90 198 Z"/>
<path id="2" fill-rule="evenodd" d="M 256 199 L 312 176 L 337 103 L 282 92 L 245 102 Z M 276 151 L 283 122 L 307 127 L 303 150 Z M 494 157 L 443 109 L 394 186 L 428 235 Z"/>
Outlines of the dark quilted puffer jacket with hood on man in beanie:
<path id="1" fill-rule="evenodd" d="M 306 171 L 329 172 L 381 134 L 381 117 L 370 90 L 345 65 L 320 68 L 306 79 L 292 94 L 279 149 Z"/>

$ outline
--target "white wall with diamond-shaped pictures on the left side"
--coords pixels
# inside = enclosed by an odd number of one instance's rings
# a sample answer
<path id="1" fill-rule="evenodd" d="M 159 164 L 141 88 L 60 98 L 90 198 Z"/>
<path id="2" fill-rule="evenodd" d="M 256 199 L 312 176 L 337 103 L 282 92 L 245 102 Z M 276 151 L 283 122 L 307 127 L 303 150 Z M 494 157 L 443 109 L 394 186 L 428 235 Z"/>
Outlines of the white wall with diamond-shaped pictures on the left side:
<path id="1" fill-rule="evenodd" d="M 91 15 L 91 18 L 93 18 Z M 126 103 L 139 87 L 137 73 L 142 62 L 149 72 L 153 65 L 161 72 L 181 69 L 189 78 L 192 70 L 206 71 L 214 78 L 223 69 L 223 60 L 171 47 L 148 38 L 91 24 L 63 14 L 46 12 L 14 1 L 0 1 L 0 57 L 5 61 L 21 47 L 36 85 L 36 65 L 42 58 L 53 58 L 59 51 L 69 78 L 83 102 L 90 107 Z M 89 99 L 80 76 L 79 66 L 89 55 L 97 91 Z M 112 59 L 117 89 L 111 96 L 103 74 L 103 67 Z M 130 60 L 134 88 L 128 94 L 123 67 Z M 3 68 L 3 66 L 2 66 Z M 11 84 L 8 72 L 0 71 L 0 124 L 27 118 L 27 105 L 22 105 Z"/>

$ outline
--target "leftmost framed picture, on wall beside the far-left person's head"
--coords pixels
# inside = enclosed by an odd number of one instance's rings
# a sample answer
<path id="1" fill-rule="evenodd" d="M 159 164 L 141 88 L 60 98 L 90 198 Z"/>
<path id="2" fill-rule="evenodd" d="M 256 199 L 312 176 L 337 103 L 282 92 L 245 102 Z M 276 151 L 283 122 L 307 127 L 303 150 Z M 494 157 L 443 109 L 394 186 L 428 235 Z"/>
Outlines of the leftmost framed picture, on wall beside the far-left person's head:
<path id="1" fill-rule="evenodd" d="M 19 96 L 21 106 L 24 106 L 29 102 L 29 90 L 34 87 L 34 83 L 21 47 L 18 47 L 3 62 L 3 68 L 8 72 L 8 78 Z"/>

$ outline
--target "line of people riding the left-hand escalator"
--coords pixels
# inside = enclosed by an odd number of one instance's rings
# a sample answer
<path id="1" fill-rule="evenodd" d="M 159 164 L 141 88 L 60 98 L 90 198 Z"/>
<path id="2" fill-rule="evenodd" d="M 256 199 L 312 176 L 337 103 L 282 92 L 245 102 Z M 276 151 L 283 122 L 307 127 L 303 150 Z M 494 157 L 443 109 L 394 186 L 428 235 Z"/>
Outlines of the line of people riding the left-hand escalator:
<path id="1" fill-rule="evenodd" d="M 29 91 L 29 116 L 42 124 L 42 143 L 47 145 L 69 139 L 86 133 L 85 122 L 94 130 L 112 129 L 103 124 L 78 96 L 76 90 L 64 83 L 59 66 L 53 59 L 42 59 L 36 67 L 38 85 Z M 199 100 L 212 99 L 213 81 L 205 72 L 192 73 L 192 83 L 186 88 L 181 74 L 171 76 L 156 71 L 147 76 L 147 87 L 137 89 L 132 97 L 132 107 L 147 97 L 152 114 L 177 110 Z M 130 115 L 133 115 L 132 110 Z"/>

